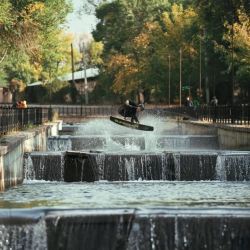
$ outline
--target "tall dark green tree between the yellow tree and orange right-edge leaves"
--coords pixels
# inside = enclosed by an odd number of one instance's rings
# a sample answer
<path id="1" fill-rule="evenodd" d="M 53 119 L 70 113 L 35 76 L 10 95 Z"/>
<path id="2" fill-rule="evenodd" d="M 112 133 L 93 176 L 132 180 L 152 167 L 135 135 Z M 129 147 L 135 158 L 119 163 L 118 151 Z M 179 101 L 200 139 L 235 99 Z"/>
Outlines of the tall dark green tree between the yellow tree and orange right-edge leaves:
<path id="1" fill-rule="evenodd" d="M 224 34 L 228 32 L 224 24 L 237 23 L 239 21 L 238 10 L 249 16 L 250 2 L 248 0 L 194 0 L 194 4 L 197 6 L 206 34 L 204 53 L 207 61 L 208 82 L 210 82 L 210 87 L 213 83 L 213 95 L 220 93 L 223 88 L 226 90 L 221 92 L 220 100 L 224 99 L 223 101 L 227 103 L 232 100 L 232 93 L 227 90 L 231 89 L 233 85 L 234 67 L 231 68 L 232 72 L 226 70 L 228 63 L 224 57 L 221 57 L 221 54 L 216 53 L 215 44 L 222 45 L 227 51 L 230 50 L 229 44 L 223 38 Z"/>

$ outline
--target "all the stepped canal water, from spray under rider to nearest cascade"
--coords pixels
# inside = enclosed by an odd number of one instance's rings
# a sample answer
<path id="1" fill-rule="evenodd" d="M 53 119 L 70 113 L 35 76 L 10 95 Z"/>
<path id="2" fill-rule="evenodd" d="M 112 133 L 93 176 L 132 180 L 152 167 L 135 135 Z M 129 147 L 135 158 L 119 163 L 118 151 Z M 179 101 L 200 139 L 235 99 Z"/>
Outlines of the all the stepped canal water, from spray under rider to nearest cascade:
<path id="1" fill-rule="evenodd" d="M 26 154 L 23 184 L 0 191 L 0 249 L 250 249 L 250 152 L 141 122 L 154 132 L 65 124 Z"/>

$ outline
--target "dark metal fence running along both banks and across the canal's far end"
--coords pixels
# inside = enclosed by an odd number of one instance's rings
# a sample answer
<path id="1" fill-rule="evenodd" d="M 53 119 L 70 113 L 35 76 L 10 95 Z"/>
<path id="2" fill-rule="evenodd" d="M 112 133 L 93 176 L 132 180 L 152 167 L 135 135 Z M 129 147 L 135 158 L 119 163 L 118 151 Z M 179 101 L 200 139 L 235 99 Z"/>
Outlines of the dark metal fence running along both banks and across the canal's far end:
<path id="1" fill-rule="evenodd" d="M 120 105 L 106 106 L 55 106 L 59 116 L 101 117 L 118 115 Z M 39 125 L 51 120 L 49 106 L 12 109 L 0 107 L 0 133 Z M 181 119 L 203 120 L 214 123 L 250 125 L 250 105 L 202 105 L 199 107 L 146 107 L 142 113 L 156 116 L 173 116 Z"/>

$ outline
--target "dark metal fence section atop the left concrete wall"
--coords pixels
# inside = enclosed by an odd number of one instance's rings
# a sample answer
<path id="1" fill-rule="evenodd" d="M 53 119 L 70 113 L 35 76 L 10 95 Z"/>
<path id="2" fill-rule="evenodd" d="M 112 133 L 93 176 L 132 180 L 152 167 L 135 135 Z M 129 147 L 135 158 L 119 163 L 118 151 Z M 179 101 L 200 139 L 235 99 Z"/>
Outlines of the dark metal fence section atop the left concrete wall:
<path id="1" fill-rule="evenodd" d="M 0 107 L 0 134 L 40 125 L 48 121 L 48 108 L 12 109 Z"/>

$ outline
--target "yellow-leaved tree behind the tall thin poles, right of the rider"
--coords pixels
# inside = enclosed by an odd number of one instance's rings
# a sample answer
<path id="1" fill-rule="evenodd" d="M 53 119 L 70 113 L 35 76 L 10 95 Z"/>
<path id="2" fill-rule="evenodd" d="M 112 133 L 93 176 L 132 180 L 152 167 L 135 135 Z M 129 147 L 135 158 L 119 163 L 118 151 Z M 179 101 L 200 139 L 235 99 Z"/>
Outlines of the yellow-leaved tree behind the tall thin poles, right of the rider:
<path id="1" fill-rule="evenodd" d="M 196 89 L 198 86 L 197 68 L 199 65 L 197 52 L 197 35 L 199 31 L 198 15 L 192 7 L 184 9 L 182 5 L 173 4 L 171 12 L 163 13 L 161 22 L 162 25 L 158 24 L 154 33 L 152 33 L 152 41 L 155 48 L 152 59 L 154 62 L 157 62 L 157 64 L 160 63 L 162 67 L 158 65 L 155 69 L 152 68 L 153 72 L 157 72 L 162 68 L 164 70 L 162 70 L 162 73 L 159 75 L 164 76 L 163 72 L 166 72 L 166 69 L 169 67 L 168 55 L 170 55 L 172 69 L 172 98 L 179 98 L 181 51 L 182 85 L 189 86 L 189 88 L 191 87 L 193 91 L 192 94 L 196 97 Z M 168 75 L 165 73 L 164 78 L 166 79 L 167 76 Z M 163 92 L 165 96 L 167 96 L 166 93 L 168 93 L 168 88 L 166 88 L 166 80 L 164 81 L 162 78 L 159 83 L 158 91 Z M 183 97 L 182 95 L 182 98 Z"/>

